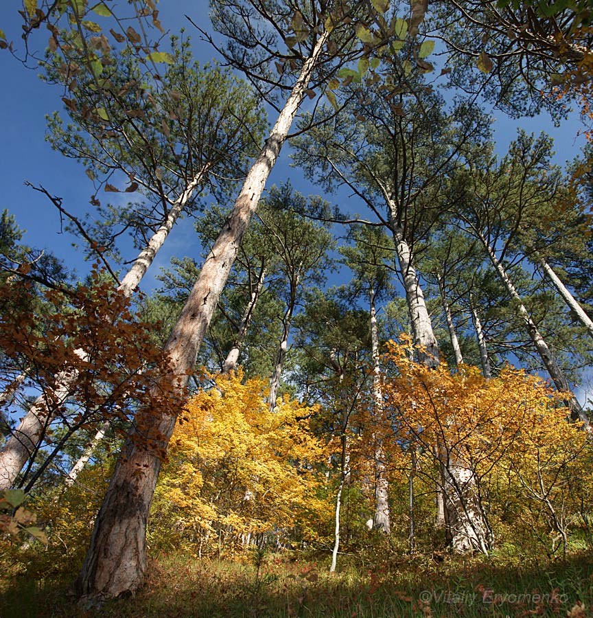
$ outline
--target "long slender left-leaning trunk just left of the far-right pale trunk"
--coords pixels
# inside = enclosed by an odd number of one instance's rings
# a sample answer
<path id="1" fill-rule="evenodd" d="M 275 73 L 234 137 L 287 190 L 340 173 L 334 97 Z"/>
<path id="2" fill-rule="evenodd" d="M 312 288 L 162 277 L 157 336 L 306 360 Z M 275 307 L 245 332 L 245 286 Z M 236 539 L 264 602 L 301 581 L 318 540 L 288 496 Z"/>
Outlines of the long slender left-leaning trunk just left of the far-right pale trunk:
<path id="1" fill-rule="evenodd" d="M 579 420 L 583 422 L 583 428 L 588 430 L 589 419 L 587 415 L 583 411 L 583 408 L 581 408 L 581 404 L 579 404 L 577 398 L 574 396 L 574 393 L 570 389 L 568 380 L 563 374 L 563 371 L 560 369 L 554 354 L 548 347 L 546 341 L 544 341 L 544 337 L 542 337 L 542 334 L 539 332 L 537 326 L 535 325 L 535 322 L 533 321 L 533 319 L 531 319 L 528 310 L 522 303 L 518 291 L 515 289 L 515 286 L 513 285 L 513 282 L 511 281 L 509 275 L 507 275 L 507 271 L 504 270 L 504 266 L 502 266 L 502 264 L 496 257 L 494 249 L 490 246 L 490 244 L 487 242 L 486 238 L 480 231 L 478 231 L 478 238 L 480 238 L 480 241 L 484 245 L 484 248 L 488 253 L 488 257 L 490 258 L 490 261 L 494 268 L 496 268 L 496 272 L 498 273 L 500 280 L 507 288 L 507 292 L 509 293 L 511 298 L 516 301 L 519 317 L 522 319 L 527 329 L 527 332 L 531 337 L 531 341 L 533 341 L 533 345 L 535 345 L 537 353 L 539 354 L 539 358 L 542 359 L 542 363 L 544 363 L 544 366 L 548 370 L 550 378 L 552 378 L 556 388 L 561 393 L 564 393 L 566 395 L 566 403 L 568 405 L 568 408 L 570 409 L 570 417 L 572 418 L 572 420 Z"/>

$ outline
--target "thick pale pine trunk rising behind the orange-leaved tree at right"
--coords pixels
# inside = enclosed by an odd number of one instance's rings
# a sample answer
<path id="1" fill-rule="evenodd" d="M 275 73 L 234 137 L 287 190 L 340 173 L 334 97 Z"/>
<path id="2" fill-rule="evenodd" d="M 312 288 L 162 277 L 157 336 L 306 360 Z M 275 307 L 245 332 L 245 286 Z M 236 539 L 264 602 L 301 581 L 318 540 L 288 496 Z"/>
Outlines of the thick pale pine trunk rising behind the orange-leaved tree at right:
<path id="1" fill-rule="evenodd" d="M 392 213 L 395 209 L 392 208 Z M 439 365 L 439 346 L 432 331 L 432 322 L 426 308 L 418 277 L 413 264 L 410 247 L 402 229 L 393 227 L 395 249 L 402 271 L 408 311 L 414 332 L 415 344 L 422 346 L 419 361 L 427 367 Z M 443 445 L 445 447 L 447 445 Z M 465 466 L 458 448 L 446 448 L 442 463 L 445 466 L 445 521 L 452 539 L 454 551 L 463 553 L 470 549 L 487 551 L 487 525 L 480 509 L 471 505 L 477 497 L 476 479 L 471 469 Z"/>

